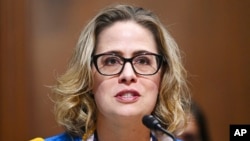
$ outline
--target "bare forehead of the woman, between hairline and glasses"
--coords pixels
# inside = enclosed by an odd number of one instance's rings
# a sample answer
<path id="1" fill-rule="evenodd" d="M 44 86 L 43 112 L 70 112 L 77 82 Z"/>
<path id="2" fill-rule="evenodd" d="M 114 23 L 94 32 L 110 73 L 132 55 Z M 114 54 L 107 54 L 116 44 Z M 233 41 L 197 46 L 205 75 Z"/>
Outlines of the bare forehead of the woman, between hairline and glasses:
<path id="1" fill-rule="evenodd" d="M 114 23 L 99 34 L 96 54 L 110 51 L 157 53 L 157 48 L 152 32 L 135 22 L 126 21 Z"/>

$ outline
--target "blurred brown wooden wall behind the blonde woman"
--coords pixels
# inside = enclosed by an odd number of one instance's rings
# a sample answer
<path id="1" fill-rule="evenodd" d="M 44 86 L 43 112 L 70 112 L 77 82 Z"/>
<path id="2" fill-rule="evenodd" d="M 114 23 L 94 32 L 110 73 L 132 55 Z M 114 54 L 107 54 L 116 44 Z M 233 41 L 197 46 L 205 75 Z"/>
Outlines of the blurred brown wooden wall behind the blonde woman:
<path id="1" fill-rule="evenodd" d="M 49 98 L 86 23 L 113 3 L 154 11 L 184 54 L 194 100 L 213 141 L 250 124 L 249 0 L 1 0 L 0 140 L 62 131 Z"/>

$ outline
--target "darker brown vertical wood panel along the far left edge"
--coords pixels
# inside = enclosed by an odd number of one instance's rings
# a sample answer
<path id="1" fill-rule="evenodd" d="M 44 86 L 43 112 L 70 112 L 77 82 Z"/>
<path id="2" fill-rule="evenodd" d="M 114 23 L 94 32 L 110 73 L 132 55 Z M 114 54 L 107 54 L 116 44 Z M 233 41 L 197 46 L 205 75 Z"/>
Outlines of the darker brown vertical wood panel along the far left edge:
<path id="1" fill-rule="evenodd" d="M 26 1 L 0 4 L 0 140 L 27 140 L 29 92 Z"/>

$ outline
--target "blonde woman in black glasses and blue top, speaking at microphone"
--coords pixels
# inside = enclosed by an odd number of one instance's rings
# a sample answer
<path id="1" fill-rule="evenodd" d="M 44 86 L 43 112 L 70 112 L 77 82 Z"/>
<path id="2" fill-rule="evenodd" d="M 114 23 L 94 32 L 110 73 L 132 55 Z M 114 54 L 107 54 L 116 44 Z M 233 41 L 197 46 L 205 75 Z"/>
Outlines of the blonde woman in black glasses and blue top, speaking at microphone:
<path id="1" fill-rule="evenodd" d="M 103 9 L 89 22 L 53 92 L 66 132 L 47 140 L 157 140 L 144 115 L 178 134 L 189 109 L 174 39 L 151 11 L 129 5 Z"/>

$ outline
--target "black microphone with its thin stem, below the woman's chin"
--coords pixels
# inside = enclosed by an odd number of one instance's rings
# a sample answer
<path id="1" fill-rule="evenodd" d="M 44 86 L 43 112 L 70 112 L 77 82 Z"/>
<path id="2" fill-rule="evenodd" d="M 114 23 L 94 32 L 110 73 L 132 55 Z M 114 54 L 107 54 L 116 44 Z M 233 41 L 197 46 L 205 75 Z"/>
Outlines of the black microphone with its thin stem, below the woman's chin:
<path id="1" fill-rule="evenodd" d="M 174 141 L 177 141 L 176 138 L 174 137 L 174 135 L 172 135 L 171 133 L 169 133 L 167 130 L 165 130 L 160 122 L 152 115 L 145 115 L 142 118 L 142 123 L 149 129 L 151 130 L 158 130 L 163 132 L 164 134 L 168 135 L 169 137 L 171 137 Z"/>

